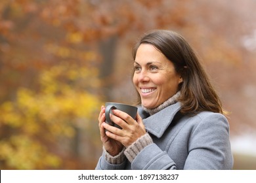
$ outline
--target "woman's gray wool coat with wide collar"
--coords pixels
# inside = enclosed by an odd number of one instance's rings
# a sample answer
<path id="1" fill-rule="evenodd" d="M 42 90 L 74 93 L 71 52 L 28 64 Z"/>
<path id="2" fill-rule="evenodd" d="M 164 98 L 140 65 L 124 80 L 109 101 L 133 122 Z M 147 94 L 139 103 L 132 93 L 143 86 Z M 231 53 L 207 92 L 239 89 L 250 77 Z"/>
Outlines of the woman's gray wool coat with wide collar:
<path id="1" fill-rule="evenodd" d="M 148 116 L 139 108 L 154 143 L 130 163 L 110 164 L 102 156 L 96 169 L 232 169 L 229 125 L 219 113 L 184 116 L 181 103 Z"/>

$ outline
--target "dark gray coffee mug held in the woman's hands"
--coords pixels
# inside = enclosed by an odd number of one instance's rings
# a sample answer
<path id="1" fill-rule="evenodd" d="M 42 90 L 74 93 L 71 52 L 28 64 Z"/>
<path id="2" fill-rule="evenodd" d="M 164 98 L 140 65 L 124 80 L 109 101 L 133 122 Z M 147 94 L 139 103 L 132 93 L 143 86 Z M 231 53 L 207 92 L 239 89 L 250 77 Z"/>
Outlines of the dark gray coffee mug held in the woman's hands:
<path id="1" fill-rule="evenodd" d="M 121 127 L 119 127 L 119 125 L 115 124 L 114 122 L 112 122 L 110 120 L 110 114 L 112 114 L 112 109 L 121 110 L 121 111 L 129 114 L 133 119 L 136 118 L 138 108 L 134 107 L 132 105 L 126 105 L 126 104 L 123 104 L 123 103 L 107 102 L 105 106 L 106 106 L 106 110 L 105 110 L 106 123 L 109 124 L 109 125 L 113 125 L 115 127 L 118 127 L 119 129 L 121 129 Z"/>

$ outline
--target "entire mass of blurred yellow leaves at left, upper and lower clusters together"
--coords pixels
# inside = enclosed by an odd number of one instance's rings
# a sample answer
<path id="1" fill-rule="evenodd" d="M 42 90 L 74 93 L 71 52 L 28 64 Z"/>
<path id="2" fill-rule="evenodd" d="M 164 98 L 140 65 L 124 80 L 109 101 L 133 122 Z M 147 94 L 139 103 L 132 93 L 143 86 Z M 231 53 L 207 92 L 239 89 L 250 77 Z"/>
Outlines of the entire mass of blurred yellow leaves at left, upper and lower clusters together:
<path id="1" fill-rule="evenodd" d="M 90 130 L 97 118 L 96 69 L 55 65 L 42 71 L 38 82 L 37 92 L 18 88 L 14 101 L 0 105 L 1 123 L 13 132 L 0 140 L 0 160 L 11 169 L 57 169 L 61 161 L 47 151 L 49 144 L 53 148 L 59 139 L 72 139 L 75 127 Z"/>

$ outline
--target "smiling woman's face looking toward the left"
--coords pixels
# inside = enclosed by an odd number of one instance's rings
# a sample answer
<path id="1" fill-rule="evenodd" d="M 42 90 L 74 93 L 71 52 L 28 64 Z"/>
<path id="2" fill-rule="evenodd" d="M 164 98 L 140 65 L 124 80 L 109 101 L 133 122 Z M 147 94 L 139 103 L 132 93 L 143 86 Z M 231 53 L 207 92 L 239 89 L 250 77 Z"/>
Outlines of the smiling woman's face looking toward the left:
<path id="1" fill-rule="evenodd" d="M 156 108 L 178 91 L 182 77 L 152 44 L 140 44 L 135 62 L 133 84 L 146 108 Z"/>

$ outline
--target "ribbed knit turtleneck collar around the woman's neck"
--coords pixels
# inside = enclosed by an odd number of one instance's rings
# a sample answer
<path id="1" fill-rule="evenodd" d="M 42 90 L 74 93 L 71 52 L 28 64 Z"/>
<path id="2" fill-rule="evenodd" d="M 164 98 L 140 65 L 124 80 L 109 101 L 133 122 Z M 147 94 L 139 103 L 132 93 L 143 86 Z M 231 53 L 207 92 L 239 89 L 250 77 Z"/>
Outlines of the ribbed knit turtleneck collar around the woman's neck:
<path id="1" fill-rule="evenodd" d="M 159 105 L 156 108 L 146 108 L 144 106 L 142 106 L 142 108 L 143 108 L 143 110 L 148 112 L 150 114 L 150 116 L 152 116 L 153 114 L 156 114 L 156 112 L 159 112 L 163 108 L 168 107 L 169 105 L 173 105 L 173 104 L 177 103 L 177 99 L 180 97 L 180 95 L 181 95 L 181 92 L 177 92 L 175 95 L 173 95 L 172 97 L 167 99 L 167 101 L 165 101 L 164 103 L 162 103 L 161 105 Z"/>

